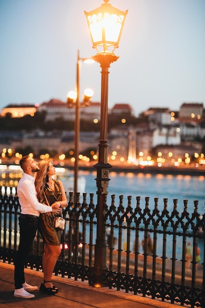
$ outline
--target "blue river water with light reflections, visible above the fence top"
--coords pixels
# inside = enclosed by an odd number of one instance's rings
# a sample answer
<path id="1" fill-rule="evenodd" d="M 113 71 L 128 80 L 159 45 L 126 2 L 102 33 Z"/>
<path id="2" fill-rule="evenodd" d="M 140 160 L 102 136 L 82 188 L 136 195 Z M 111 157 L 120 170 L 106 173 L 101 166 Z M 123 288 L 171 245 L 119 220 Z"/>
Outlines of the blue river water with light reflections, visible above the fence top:
<path id="1" fill-rule="evenodd" d="M 96 203 L 96 171 L 79 171 L 80 175 L 86 178 L 87 193 L 94 193 Z M 173 210 L 173 199 L 177 199 L 177 211 L 183 211 L 183 200 L 188 200 L 188 212 L 194 211 L 194 200 L 198 200 L 198 213 L 205 213 L 205 176 L 182 176 L 163 174 L 134 174 L 110 172 L 108 186 L 108 204 L 111 194 L 116 195 L 116 202 L 119 195 L 123 195 L 123 203 L 127 196 L 132 196 L 132 207 L 136 207 L 136 196 L 141 197 L 141 208 L 145 207 L 145 197 L 149 197 L 149 208 L 153 209 L 154 198 L 158 197 L 158 210 L 163 210 L 164 198 L 168 198 L 168 211 Z M 125 207 L 125 204 L 124 204 Z"/>

